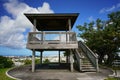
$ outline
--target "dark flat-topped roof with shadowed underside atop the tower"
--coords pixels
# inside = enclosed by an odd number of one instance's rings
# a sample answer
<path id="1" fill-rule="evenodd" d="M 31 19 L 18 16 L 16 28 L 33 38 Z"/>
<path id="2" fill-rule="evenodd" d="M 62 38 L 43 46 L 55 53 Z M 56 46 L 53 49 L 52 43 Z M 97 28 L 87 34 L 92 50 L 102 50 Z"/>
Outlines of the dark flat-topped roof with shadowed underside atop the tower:
<path id="1" fill-rule="evenodd" d="M 71 19 L 71 29 L 78 17 L 78 13 L 62 14 L 24 14 L 32 24 L 36 19 L 36 28 L 38 31 L 66 31 L 69 30 L 68 19 Z"/>

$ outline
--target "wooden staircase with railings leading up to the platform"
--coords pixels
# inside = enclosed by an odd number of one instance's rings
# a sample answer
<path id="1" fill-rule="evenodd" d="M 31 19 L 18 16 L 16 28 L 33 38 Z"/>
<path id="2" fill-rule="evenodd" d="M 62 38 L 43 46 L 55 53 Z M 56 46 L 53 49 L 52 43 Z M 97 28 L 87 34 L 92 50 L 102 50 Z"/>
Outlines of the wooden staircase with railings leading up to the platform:
<path id="1" fill-rule="evenodd" d="M 81 45 L 82 44 L 82 45 Z M 98 71 L 98 58 L 84 43 L 79 43 L 79 48 L 73 50 L 80 71 Z"/>

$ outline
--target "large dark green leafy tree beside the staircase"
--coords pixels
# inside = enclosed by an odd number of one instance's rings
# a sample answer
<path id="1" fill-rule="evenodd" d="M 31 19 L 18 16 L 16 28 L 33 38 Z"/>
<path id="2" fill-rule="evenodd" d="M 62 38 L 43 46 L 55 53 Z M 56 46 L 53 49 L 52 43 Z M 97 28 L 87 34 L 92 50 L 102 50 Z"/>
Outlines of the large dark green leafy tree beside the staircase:
<path id="1" fill-rule="evenodd" d="M 106 64 L 111 65 L 115 52 L 120 48 L 120 11 L 108 14 L 108 20 L 97 19 L 90 23 L 77 26 L 85 43 L 99 55 L 99 63 L 102 63 L 104 56 L 108 59 Z"/>

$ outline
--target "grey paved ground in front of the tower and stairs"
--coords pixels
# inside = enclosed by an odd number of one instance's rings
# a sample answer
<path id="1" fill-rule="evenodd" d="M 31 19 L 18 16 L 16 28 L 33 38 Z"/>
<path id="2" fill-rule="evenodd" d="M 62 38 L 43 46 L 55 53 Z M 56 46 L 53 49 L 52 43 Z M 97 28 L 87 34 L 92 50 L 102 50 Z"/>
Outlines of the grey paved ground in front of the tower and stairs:
<path id="1" fill-rule="evenodd" d="M 18 67 L 8 71 L 12 77 L 21 80 L 104 80 L 112 72 L 108 69 L 100 69 L 100 72 L 70 72 L 67 69 L 38 69 L 32 73 L 30 66 Z"/>

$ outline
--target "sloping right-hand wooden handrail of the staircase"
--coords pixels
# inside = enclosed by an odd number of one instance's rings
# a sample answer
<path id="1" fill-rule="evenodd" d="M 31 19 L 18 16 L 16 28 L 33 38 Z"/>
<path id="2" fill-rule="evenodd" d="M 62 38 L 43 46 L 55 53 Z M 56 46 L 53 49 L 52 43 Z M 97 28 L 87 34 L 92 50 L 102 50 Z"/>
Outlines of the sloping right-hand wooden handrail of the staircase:
<path id="1" fill-rule="evenodd" d="M 94 54 L 83 42 L 79 41 L 78 46 L 83 50 L 84 54 L 88 57 L 88 59 L 92 62 L 96 71 L 99 70 L 98 67 L 98 56 Z"/>

